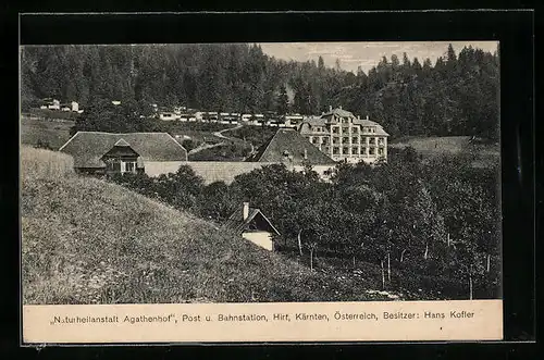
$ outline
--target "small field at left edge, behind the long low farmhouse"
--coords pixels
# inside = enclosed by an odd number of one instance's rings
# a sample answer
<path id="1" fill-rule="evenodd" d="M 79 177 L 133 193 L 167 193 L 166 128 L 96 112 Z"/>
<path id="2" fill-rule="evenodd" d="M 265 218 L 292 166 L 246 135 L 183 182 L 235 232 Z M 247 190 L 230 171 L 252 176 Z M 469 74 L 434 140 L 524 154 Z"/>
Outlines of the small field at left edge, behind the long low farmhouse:
<path id="1" fill-rule="evenodd" d="M 21 116 L 21 142 L 35 146 L 48 144 L 58 150 L 70 139 L 70 128 L 74 125 L 69 120 L 47 120 Z"/>

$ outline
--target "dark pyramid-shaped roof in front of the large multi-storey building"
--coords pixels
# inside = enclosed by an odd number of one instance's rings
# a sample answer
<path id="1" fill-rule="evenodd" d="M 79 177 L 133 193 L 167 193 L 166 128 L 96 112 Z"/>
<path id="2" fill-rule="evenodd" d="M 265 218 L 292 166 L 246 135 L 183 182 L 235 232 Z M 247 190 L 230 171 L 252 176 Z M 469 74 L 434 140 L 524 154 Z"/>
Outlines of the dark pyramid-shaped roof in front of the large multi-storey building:
<path id="1" fill-rule="evenodd" d="M 305 159 L 305 150 L 307 159 Z M 321 152 L 304 136 L 293 128 L 280 128 L 274 136 L 264 142 L 257 153 L 247 161 L 284 162 L 288 164 L 329 165 L 335 161 Z"/>

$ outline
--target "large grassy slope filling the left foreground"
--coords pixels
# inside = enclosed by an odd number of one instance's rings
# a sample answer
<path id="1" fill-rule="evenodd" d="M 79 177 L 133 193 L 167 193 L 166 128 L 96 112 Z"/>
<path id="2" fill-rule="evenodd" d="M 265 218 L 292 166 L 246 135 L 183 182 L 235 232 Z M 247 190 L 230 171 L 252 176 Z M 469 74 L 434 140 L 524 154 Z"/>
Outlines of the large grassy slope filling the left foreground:
<path id="1" fill-rule="evenodd" d="M 203 220 L 22 149 L 24 303 L 384 299 Z M 378 280 L 378 276 L 372 276 Z"/>

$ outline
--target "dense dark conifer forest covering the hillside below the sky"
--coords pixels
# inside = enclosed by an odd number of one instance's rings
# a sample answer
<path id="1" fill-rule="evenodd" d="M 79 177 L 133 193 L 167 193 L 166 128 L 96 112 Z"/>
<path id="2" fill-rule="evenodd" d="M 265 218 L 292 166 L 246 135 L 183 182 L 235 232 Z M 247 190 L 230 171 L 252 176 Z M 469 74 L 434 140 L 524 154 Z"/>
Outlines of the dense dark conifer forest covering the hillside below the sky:
<path id="1" fill-rule="evenodd" d="M 453 47 L 433 64 L 404 54 L 368 74 L 317 61 L 283 61 L 256 45 L 25 47 L 22 100 L 99 99 L 208 111 L 320 114 L 343 105 L 390 134 L 498 136 L 498 54 Z M 290 101 L 289 101 L 290 98 Z"/>

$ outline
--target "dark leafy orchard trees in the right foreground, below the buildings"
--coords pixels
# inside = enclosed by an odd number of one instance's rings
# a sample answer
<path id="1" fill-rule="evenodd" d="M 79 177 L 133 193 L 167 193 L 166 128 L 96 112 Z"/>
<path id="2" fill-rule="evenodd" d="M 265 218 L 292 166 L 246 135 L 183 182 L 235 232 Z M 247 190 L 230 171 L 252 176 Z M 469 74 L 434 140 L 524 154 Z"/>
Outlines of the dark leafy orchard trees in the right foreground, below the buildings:
<path id="1" fill-rule="evenodd" d="M 276 244 L 283 252 L 310 259 L 313 268 L 333 258 L 354 268 L 364 261 L 383 266 L 387 289 L 494 298 L 500 290 L 499 170 L 473 167 L 472 160 L 460 154 L 422 162 L 407 148 L 376 166 L 338 164 L 331 183 L 309 167 L 298 173 L 282 164 L 231 185 L 205 185 L 185 165 L 158 178 L 125 174 L 113 181 L 219 223 L 249 201 L 282 234 Z M 391 270 L 404 275 L 390 278 Z"/>

